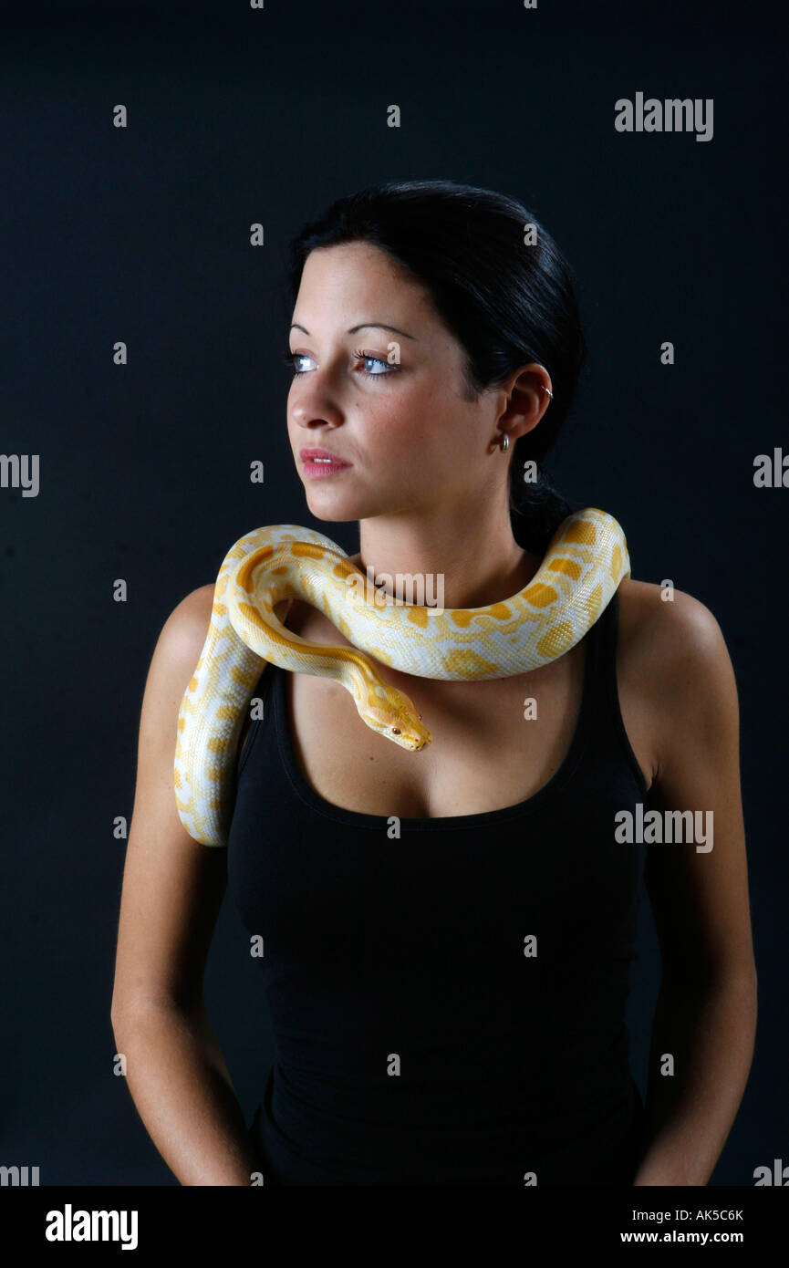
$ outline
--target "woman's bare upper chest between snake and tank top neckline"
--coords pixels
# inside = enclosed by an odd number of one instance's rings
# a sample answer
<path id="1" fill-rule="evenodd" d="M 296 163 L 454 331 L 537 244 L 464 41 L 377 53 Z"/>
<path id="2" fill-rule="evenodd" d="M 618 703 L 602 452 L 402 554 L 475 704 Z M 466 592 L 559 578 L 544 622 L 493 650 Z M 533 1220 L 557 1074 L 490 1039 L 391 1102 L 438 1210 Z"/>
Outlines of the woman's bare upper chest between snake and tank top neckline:
<path id="1" fill-rule="evenodd" d="M 436 682 L 393 672 L 433 733 L 411 753 L 364 724 L 341 683 L 288 675 L 288 729 L 299 766 L 327 801 L 379 815 L 450 817 L 523 801 L 559 768 L 578 720 L 584 647 L 530 675 Z"/>

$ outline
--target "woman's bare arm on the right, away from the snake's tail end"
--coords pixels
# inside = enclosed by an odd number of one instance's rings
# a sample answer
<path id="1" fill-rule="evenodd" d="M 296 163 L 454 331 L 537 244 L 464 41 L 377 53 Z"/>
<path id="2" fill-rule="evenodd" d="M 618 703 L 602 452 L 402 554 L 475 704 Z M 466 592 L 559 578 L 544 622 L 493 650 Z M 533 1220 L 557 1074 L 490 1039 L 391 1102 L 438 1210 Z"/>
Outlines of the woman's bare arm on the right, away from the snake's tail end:
<path id="1" fill-rule="evenodd" d="M 646 884 L 662 983 L 649 1054 L 646 1149 L 633 1183 L 703 1186 L 740 1108 L 756 1032 L 738 706 L 714 616 L 681 592 L 662 606 L 644 657 L 657 666 L 656 808 L 701 812 L 713 848 L 698 851 L 696 838 L 649 851 Z M 672 1074 L 663 1073 L 666 1054 L 674 1059 Z"/>

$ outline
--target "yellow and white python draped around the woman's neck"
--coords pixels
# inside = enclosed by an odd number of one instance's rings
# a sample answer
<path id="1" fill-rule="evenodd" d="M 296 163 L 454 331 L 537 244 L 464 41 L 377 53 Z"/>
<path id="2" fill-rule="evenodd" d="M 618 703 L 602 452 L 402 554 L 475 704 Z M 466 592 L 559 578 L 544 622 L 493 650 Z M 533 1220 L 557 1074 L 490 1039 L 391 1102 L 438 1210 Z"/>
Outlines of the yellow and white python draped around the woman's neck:
<path id="1" fill-rule="evenodd" d="M 178 718 L 174 787 L 184 828 L 203 844 L 227 844 L 238 737 L 266 662 L 336 678 L 368 727 L 417 752 L 430 732 L 368 656 L 420 678 L 525 673 L 578 643 L 629 572 L 620 525 L 594 507 L 559 525 L 519 593 L 487 607 L 420 607 L 373 592 L 341 547 L 296 524 L 247 533 L 219 568 L 208 635 Z M 353 647 L 308 643 L 285 629 L 274 607 L 294 597 L 323 611 Z"/>

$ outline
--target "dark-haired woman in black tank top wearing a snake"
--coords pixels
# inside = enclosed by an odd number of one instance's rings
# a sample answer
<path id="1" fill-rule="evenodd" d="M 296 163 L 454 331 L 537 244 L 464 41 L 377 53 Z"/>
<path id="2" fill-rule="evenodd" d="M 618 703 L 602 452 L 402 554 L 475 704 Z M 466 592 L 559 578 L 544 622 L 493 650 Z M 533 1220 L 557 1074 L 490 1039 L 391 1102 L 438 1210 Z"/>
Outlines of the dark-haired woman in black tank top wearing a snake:
<path id="1" fill-rule="evenodd" d="M 288 434 L 311 514 L 358 520 L 359 568 L 440 578 L 444 607 L 521 590 L 571 511 L 533 477 L 585 355 L 547 231 L 487 190 L 388 184 L 303 230 L 292 284 Z M 381 666 L 433 733 L 419 754 L 341 685 L 268 666 L 226 857 L 186 836 L 171 787 L 212 598 L 178 605 L 151 663 L 113 998 L 180 1182 L 705 1184 L 756 1017 L 737 695 L 712 614 L 625 579 L 539 670 Z M 346 642 L 301 602 L 287 624 Z M 712 812 L 713 848 L 624 842 L 647 794 Z M 624 1025 L 642 875 L 663 966 L 646 1112 Z M 249 1131 L 202 999 L 228 877 L 277 1040 Z"/>

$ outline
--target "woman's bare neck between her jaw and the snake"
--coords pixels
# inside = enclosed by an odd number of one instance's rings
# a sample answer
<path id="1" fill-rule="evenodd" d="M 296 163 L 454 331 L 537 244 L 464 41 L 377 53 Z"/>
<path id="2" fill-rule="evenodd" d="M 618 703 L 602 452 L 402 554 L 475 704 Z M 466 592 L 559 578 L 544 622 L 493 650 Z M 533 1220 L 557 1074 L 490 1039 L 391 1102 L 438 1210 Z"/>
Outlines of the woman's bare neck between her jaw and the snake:
<path id="1" fill-rule="evenodd" d="M 510 598 L 540 563 L 518 545 L 509 512 L 490 521 L 453 517 L 444 510 L 430 521 L 416 521 L 414 515 L 377 516 L 359 521 L 359 545 L 353 562 L 365 574 L 372 568 L 374 579 L 384 579 L 383 588 L 392 592 L 398 573 L 411 576 L 447 609 L 485 607 Z M 419 602 L 407 592 L 402 597 Z"/>

